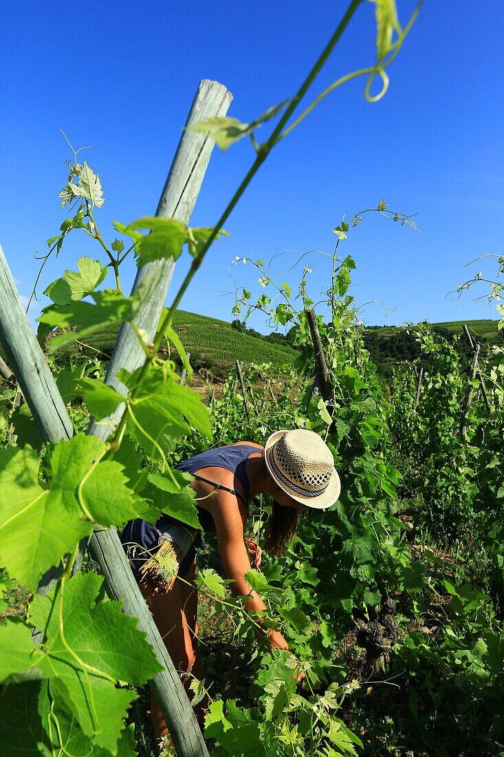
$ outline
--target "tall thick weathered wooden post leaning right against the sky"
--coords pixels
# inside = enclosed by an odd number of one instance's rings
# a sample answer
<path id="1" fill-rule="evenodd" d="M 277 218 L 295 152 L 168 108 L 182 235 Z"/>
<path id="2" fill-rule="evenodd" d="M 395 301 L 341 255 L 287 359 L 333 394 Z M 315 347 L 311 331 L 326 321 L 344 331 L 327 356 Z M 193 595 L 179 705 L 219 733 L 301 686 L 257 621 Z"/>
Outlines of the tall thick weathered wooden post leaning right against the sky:
<path id="1" fill-rule="evenodd" d="M 232 95 L 225 86 L 209 79 L 201 81 L 157 204 L 157 216 L 176 218 L 188 223 L 215 144 L 213 138 L 207 134 L 188 131 L 188 126 L 209 117 L 225 116 L 231 101 Z M 174 267 L 175 264 L 170 259 L 154 260 L 138 269 L 132 294 L 142 286 L 150 292 L 150 296 L 135 317 L 135 324 L 138 329 L 147 332 L 148 341 L 151 341 L 156 332 Z M 110 358 L 105 382 L 121 394 L 125 394 L 125 387 L 116 378 L 117 371 L 120 368 L 133 371 L 144 362 L 145 353 L 135 332 L 129 323 L 123 323 Z M 104 419 L 99 424 L 93 420 L 89 426 L 89 433 L 106 439 L 123 413 L 124 406 L 120 405 L 109 419 Z"/>

